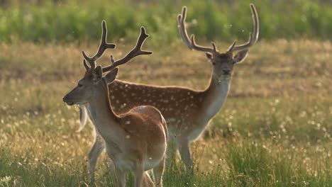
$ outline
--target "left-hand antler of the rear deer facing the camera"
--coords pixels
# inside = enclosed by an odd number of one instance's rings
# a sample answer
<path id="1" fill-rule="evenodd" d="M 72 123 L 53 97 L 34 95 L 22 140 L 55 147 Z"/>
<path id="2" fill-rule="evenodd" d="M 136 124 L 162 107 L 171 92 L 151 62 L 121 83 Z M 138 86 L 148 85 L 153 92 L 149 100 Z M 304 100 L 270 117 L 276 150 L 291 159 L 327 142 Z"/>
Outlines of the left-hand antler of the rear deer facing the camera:
<path id="1" fill-rule="evenodd" d="M 186 28 L 186 17 L 187 17 L 187 7 L 183 6 L 182 8 L 182 14 L 177 15 L 177 23 L 179 28 L 179 34 L 182 38 L 182 41 L 184 42 L 187 47 L 189 47 L 190 50 L 198 50 L 198 51 L 204 51 L 204 52 L 217 52 L 216 45 L 214 42 L 211 42 L 212 48 L 210 47 L 204 47 L 201 45 L 197 45 L 195 42 L 195 36 L 192 35 L 189 40 L 189 36 L 187 33 Z"/>

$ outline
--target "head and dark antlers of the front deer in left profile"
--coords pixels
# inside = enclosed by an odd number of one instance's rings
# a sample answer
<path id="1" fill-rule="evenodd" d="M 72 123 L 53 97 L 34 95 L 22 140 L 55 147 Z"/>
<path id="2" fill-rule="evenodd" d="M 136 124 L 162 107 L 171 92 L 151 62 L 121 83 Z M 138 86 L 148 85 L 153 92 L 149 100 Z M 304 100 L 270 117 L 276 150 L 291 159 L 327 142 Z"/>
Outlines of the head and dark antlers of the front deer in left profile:
<path id="1" fill-rule="evenodd" d="M 134 57 L 138 55 L 150 55 L 153 52 L 143 51 L 141 47 L 146 38 L 149 37 L 145 33 L 145 28 L 140 28 L 140 36 L 138 37 L 138 42 L 136 46 L 121 60 L 115 61 L 114 57 L 111 56 L 112 64 L 108 67 L 102 68 L 100 65 L 96 67 L 96 60 L 98 60 L 101 55 L 104 54 L 106 49 L 114 49 L 116 47 L 115 44 L 110 44 L 106 42 L 106 22 L 102 22 L 103 33 L 101 35 L 101 44 L 99 45 L 99 50 L 96 52 L 94 57 L 88 57 L 84 51 L 82 51 L 82 55 L 84 57 L 83 64 L 86 69 L 84 77 L 79 80 L 77 86 L 70 91 L 64 98 L 63 101 L 68 105 L 72 106 L 74 104 L 85 104 L 89 103 L 91 99 L 97 96 L 100 93 L 105 93 L 106 96 L 108 94 L 107 85 L 111 84 L 118 74 L 118 66 L 121 64 L 125 64 L 131 61 Z M 87 64 L 89 62 L 89 65 Z M 103 72 L 108 72 L 105 77 L 103 77 Z"/>

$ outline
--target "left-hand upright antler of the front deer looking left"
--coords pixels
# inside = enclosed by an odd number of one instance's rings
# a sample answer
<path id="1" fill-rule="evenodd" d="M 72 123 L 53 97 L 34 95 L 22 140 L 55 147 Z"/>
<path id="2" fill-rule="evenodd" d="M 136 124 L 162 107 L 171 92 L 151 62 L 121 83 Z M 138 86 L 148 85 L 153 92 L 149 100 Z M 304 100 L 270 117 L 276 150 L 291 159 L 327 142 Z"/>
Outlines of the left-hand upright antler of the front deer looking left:
<path id="1" fill-rule="evenodd" d="M 93 57 L 88 57 L 85 54 L 85 52 L 82 51 L 82 55 L 83 55 L 84 59 L 87 60 L 87 62 L 89 62 L 91 69 L 94 69 L 96 67 L 96 63 L 95 63 L 96 60 L 98 60 L 101 57 L 101 55 L 104 54 L 105 50 L 114 49 L 116 47 L 116 45 L 114 43 L 106 42 L 106 36 L 107 36 L 106 21 L 103 21 L 101 23 L 101 27 L 102 27 L 103 31 L 101 34 L 101 41 L 100 41 L 99 49 L 96 52 L 96 55 L 94 55 Z M 87 65 L 87 62 L 85 62 L 85 60 L 83 60 L 84 67 L 89 68 L 89 66 Z"/>

